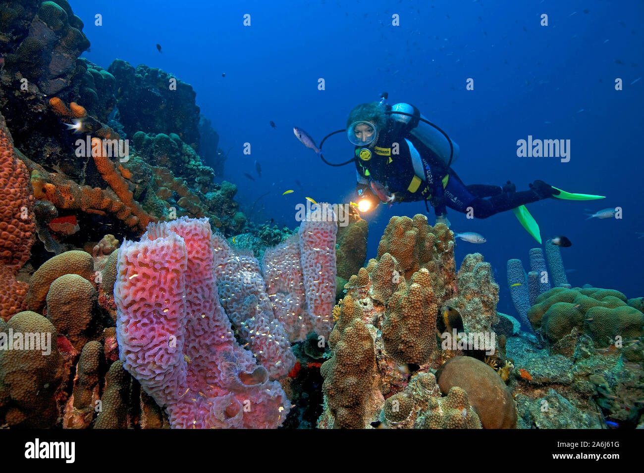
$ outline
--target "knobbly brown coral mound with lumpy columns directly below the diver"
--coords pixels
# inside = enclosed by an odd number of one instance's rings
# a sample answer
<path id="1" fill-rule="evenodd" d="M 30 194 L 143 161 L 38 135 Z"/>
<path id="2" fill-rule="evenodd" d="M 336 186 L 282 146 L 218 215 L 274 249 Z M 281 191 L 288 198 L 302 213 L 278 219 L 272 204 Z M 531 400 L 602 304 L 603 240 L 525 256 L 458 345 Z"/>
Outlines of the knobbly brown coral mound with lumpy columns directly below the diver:
<path id="1" fill-rule="evenodd" d="M 445 225 L 432 228 L 420 214 L 390 220 L 378 258 L 352 275 L 334 310 L 331 357 L 321 367 L 325 410 L 318 427 L 369 428 L 374 422 L 395 428 L 480 427 L 469 391 L 453 389 L 439 400 L 441 390 L 432 374 L 447 358 L 465 358 L 458 356 L 464 351 L 483 358 L 483 344 L 459 348 L 457 339 L 464 345 L 475 330 L 491 336 L 497 322 L 498 286 L 491 266 L 480 254 L 468 255 L 457 273 L 453 248 L 453 234 Z M 437 319 L 439 308 L 448 303 L 466 331 L 444 348 L 437 342 Z M 452 334 L 443 335 L 446 342 Z M 496 344 L 488 340 L 487 348 L 495 353 Z M 514 408 L 511 396 L 509 402 L 493 399 L 490 410 Z"/>

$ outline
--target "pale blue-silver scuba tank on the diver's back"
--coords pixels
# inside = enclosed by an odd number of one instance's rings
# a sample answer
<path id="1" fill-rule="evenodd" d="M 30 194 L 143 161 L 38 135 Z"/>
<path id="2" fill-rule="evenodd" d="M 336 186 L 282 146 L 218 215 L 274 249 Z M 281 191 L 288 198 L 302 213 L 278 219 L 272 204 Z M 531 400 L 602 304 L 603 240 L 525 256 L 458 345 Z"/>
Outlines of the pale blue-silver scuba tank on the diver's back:
<path id="1" fill-rule="evenodd" d="M 397 114 L 397 111 L 413 116 Z M 427 118 L 422 116 L 416 107 L 404 103 L 392 105 L 390 116 L 397 122 L 406 124 L 409 133 L 421 140 L 422 144 L 436 153 L 446 167 L 450 167 L 459 157 L 459 145 L 452 141 L 453 153 L 451 154 L 450 160 L 450 142 L 448 138 L 446 138 L 444 133 L 436 129 L 436 127 L 429 125 Z"/>

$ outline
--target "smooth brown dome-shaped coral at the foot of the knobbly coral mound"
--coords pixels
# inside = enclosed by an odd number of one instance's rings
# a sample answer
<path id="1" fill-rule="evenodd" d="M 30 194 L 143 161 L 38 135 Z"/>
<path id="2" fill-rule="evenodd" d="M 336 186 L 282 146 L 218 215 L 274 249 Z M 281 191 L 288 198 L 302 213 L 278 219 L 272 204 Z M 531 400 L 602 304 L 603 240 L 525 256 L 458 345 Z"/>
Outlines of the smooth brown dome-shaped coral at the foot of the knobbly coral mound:
<path id="1" fill-rule="evenodd" d="M 516 404 L 501 377 L 484 362 L 471 357 L 454 357 L 437 371 L 440 391 L 462 388 L 476 409 L 484 429 L 514 429 Z"/>

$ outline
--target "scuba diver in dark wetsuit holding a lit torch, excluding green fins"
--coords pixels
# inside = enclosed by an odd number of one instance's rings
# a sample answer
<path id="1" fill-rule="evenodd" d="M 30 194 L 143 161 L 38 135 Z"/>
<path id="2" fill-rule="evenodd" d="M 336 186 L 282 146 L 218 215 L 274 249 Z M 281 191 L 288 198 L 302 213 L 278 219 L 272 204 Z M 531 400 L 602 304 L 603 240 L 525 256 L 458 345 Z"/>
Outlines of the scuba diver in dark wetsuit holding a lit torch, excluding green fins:
<path id="1" fill-rule="evenodd" d="M 446 207 L 488 218 L 560 194 L 539 180 L 522 192 L 510 181 L 503 186 L 465 185 L 451 169 L 459 146 L 421 118 L 410 104 L 388 106 L 384 100 L 352 109 L 346 136 L 355 145 L 356 191 L 363 210 L 378 201 L 424 201 L 434 208 L 436 223 L 450 227 Z"/>

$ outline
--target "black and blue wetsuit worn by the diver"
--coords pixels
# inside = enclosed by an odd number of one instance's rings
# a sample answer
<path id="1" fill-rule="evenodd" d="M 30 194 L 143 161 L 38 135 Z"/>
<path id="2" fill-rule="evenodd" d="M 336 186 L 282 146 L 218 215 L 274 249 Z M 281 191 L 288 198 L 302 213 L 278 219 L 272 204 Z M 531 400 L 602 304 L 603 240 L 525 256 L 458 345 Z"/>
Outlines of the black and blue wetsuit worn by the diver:
<path id="1" fill-rule="evenodd" d="M 524 192 L 504 192 L 497 185 L 465 185 L 451 167 L 409 133 L 414 126 L 413 120 L 405 124 L 389 118 L 373 150 L 355 147 L 359 196 L 373 194 L 372 180 L 395 194 L 396 201 L 427 201 L 437 216 L 444 216 L 450 207 L 462 213 L 471 209 L 474 218 L 488 218 L 552 195 L 552 188 L 545 184 L 545 189 L 534 187 Z"/>

